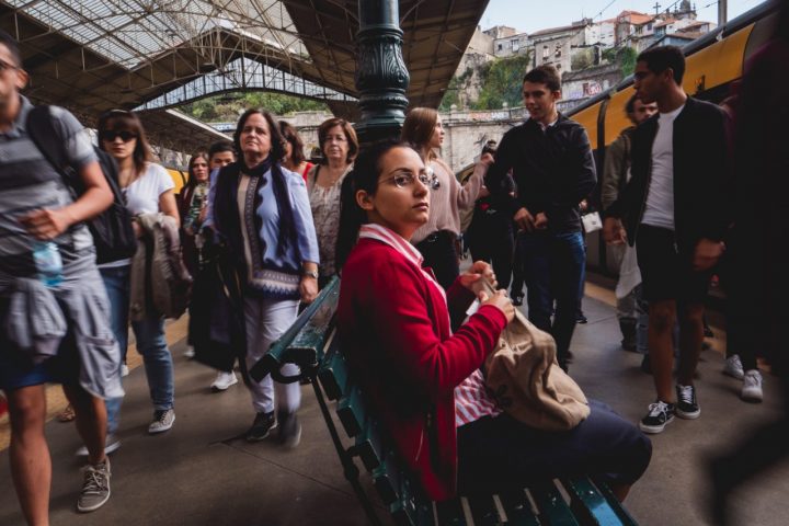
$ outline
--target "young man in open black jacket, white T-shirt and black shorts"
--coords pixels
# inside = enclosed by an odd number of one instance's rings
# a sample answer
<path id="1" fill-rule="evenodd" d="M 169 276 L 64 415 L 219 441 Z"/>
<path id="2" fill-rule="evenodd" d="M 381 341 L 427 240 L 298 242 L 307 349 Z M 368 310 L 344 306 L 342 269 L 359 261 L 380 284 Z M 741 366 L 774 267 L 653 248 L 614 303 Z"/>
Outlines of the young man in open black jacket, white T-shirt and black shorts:
<path id="1" fill-rule="evenodd" d="M 685 57 L 674 46 L 639 55 L 634 88 L 660 114 L 632 136 L 631 179 L 606 210 L 609 243 L 638 241 L 643 296 L 649 309 L 649 350 L 658 400 L 641 420 L 645 433 L 661 433 L 674 415 L 697 419 L 701 410 L 693 377 L 704 339 L 704 299 L 710 268 L 729 225 L 725 117 L 716 105 L 682 88 Z M 625 219 L 626 230 L 622 229 Z M 627 231 L 627 233 L 626 233 Z M 679 315 L 679 368 L 672 391 L 672 328 Z"/>

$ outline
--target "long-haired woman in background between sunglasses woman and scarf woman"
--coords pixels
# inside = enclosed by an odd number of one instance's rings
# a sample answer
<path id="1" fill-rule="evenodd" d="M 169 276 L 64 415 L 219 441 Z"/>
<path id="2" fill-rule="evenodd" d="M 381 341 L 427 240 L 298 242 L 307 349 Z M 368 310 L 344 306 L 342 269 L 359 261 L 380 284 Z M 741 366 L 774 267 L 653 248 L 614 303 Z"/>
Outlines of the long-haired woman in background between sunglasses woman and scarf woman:
<path id="1" fill-rule="evenodd" d="M 202 217 L 208 201 L 208 174 L 210 171 L 208 152 L 197 150 L 188 162 L 188 179 L 179 195 L 181 216 L 181 249 L 183 260 L 193 276 L 197 274 L 199 252 L 196 236 L 202 226 Z"/>

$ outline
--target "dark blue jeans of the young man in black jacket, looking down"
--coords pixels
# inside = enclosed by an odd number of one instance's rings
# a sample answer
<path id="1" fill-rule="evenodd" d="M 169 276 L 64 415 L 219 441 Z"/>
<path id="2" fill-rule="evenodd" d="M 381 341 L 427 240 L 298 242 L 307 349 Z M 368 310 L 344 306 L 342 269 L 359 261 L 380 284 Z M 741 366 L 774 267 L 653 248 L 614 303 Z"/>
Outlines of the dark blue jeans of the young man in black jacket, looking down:
<path id="1" fill-rule="evenodd" d="M 553 335 L 557 359 L 567 368 L 586 264 L 583 235 L 536 232 L 522 236 L 529 320 Z"/>

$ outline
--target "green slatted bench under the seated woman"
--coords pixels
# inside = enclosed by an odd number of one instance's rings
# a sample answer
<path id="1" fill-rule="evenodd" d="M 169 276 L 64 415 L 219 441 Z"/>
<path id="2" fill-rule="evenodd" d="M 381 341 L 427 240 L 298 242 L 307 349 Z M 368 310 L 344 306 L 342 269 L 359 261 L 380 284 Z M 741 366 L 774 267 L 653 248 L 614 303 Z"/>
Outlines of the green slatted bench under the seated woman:
<path id="1" fill-rule="evenodd" d="M 365 403 L 335 339 L 333 323 L 340 282 L 333 279 L 294 325 L 250 370 L 255 379 L 272 374 L 277 381 L 307 379 L 315 389 L 345 478 L 371 524 L 381 524 L 374 500 L 359 477 L 359 465 L 370 474 L 379 501 L 401 525 L 550 525 L 631 526 L 636 521 L 610 490 L 586 477 L 550 480 L 531 488 L 446 502 L 424 499 L 388 436 Z M 298 376 L 284 377 L 284 364 L 299 366 Z M 352 444 L 340 436 L 327 401 L 336 402 L 336 416 Z M 346 441 L 348 442 L 348 441 Z"/>

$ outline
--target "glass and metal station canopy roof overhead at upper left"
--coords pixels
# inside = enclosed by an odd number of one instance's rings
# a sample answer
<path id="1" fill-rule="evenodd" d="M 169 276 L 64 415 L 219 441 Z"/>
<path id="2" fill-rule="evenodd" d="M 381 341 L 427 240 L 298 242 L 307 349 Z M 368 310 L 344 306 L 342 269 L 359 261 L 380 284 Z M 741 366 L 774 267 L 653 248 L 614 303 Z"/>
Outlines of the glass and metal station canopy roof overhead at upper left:
<path id="1" fill-rule="evenodd" d="M 399 2 L 412 106 L 439 104 L 487 4 Z M 20 42 L 34 102 L 89 126 L 110 108 L 140 111 L 172 149 L 219 137 L 172 111 L 213 94 L 288 93 L 358 116 L 357 1 L 0 0 L 0 27 Z"/>

